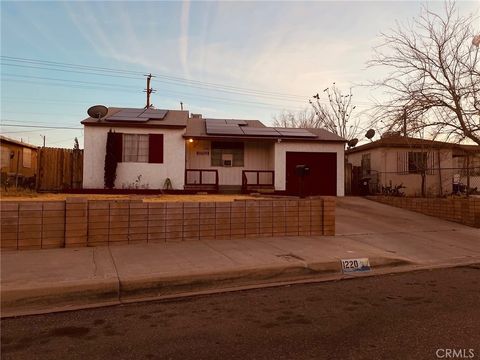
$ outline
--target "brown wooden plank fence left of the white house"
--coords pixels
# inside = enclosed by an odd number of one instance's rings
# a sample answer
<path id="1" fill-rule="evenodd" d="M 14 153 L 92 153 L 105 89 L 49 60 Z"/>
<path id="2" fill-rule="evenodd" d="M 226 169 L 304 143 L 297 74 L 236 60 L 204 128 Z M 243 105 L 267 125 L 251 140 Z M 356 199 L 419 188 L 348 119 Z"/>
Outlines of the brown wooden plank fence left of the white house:
<path id="1" fill-rule="evenodd" d="M 61 191 L 82 187 L 83 150 L 40 148 L 37 161 L 37 190 Z"/>

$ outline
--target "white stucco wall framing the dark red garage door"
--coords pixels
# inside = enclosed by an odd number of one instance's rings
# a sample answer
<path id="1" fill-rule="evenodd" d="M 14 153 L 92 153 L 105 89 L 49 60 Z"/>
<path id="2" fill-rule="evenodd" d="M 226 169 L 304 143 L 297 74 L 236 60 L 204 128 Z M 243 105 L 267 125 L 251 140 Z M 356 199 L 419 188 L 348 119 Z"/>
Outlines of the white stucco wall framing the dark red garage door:
<path id="1" fill-rule="evenodd" d="M 344 196 L 344 150 L 343 143 L 300 143 L 282 141 L 275 144 L 275 190 L 285 190 L 287 151 L 337 153 L 337 196 Z"/>

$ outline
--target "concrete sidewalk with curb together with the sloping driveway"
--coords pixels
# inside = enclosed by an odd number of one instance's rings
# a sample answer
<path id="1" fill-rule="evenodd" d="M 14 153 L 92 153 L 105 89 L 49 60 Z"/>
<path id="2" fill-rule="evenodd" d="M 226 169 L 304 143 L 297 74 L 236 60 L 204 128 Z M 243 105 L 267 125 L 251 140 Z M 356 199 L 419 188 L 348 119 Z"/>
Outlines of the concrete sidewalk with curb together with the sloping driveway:
<path id="1" fill-rule="evenodd" d="M 480 231 L 361 198 L 339 199 L 337 236 L 167 242 L 2 252 L 1 315 L 340 279 L 480 262 Z"/>

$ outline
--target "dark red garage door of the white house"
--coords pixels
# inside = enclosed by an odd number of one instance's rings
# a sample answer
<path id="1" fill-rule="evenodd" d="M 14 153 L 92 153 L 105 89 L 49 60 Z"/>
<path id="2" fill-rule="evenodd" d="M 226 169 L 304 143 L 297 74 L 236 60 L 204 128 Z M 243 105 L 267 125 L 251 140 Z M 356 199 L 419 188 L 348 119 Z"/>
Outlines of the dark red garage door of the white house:
<path id="1" fill-rule="evenodd" d="M 337 195 L 337 153 L 287 152 L 286 192 L 289 195 Z M 298 176 L 297 165 L 310 170 Z"/>

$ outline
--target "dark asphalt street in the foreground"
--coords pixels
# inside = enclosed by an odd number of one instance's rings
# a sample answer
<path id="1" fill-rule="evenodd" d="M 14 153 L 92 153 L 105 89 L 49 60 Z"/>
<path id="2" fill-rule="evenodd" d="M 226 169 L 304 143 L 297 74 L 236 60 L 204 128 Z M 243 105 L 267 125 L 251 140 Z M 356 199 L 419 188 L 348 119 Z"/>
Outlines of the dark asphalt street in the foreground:
<path id="1" fill-rule="evenodd" d="M 10 318 L 1 330 L 3 359 L 480 359 L 480 266 Z"/>

